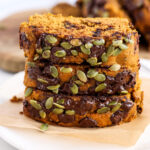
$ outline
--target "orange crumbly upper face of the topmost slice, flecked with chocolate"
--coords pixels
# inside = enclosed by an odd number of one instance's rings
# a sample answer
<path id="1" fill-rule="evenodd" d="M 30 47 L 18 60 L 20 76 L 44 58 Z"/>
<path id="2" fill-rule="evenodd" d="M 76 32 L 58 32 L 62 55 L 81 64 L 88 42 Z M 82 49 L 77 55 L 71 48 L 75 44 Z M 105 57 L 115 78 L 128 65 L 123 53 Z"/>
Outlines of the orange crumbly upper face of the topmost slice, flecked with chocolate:
<path id="1" fill-rule="evenodd" d="M 76 18 L 62 15 L 35 14 L 28 22 L 23 22 L 21 28 L 34 27 L 41 33 L 49 33 L 58 37 L 109 37 L 135 34 L 137 31 L 127 19 L 122 18 Z M 98 34 L 96 34 L 98 32 Z M 96 36 L 95 36 L 96 34 Z"/>

